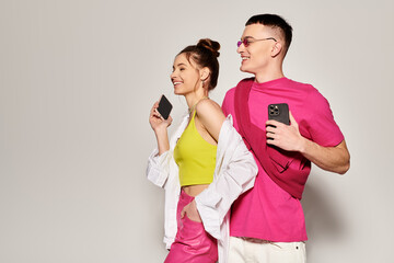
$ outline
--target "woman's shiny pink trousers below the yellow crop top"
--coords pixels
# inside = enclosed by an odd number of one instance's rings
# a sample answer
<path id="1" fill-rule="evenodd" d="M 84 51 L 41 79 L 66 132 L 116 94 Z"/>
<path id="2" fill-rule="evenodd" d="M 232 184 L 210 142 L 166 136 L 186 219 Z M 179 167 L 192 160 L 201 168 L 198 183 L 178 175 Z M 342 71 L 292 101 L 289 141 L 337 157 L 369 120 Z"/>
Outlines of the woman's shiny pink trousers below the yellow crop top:
<path id="1" fill-rule="evenodd" d="M 181 192 L 177 205 L 177 233 L 164 263 L 215 263 L 218 245 L 215 238 L 204 229 L 202 222 L 192 221 L 187 215 L 181 218 L 182 209 L 194 199 Z"/>

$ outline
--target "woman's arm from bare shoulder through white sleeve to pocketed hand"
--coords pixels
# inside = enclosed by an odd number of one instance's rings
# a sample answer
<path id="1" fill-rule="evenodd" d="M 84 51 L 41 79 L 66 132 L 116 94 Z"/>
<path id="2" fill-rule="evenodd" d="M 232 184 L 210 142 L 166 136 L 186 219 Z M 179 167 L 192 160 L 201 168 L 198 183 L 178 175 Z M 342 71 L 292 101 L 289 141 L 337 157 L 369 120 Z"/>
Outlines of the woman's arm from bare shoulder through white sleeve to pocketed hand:
<path id="1" fill-rule="evenodd" d="M 204 127 L 218 141 L 218 151 L 221 147 L 220 160 L 217 159 L 217 162 L 221 164 L 220 175 L 184 207 L 182 216 L 186 213 L 196 221 L 202 220 L 206 230 L 212 237 L 221 239 L 222 220 L 232 203 L 242 193 L 253 187 L 258 170 L 252 153 L 232 123 L 224 123 L 224 114 L 218 104 L 204 100 L 197 105 L 197 114 Z"/>

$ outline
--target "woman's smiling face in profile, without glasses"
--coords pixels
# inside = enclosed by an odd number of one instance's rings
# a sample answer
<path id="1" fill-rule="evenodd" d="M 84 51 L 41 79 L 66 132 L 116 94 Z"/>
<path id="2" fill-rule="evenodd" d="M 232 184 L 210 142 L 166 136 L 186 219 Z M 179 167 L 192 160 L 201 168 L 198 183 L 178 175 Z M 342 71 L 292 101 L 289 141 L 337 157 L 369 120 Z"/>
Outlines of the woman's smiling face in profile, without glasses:
<path id="1" fill-rule="evenodd" d="M 190 62 L 185 54 L 175 57 L 173 72 L 170 77 L 174 84 L 174 93 L 177 95 L 192 93 L 200 85 L 199 70 L 193 59 L 190 59 Z"/>

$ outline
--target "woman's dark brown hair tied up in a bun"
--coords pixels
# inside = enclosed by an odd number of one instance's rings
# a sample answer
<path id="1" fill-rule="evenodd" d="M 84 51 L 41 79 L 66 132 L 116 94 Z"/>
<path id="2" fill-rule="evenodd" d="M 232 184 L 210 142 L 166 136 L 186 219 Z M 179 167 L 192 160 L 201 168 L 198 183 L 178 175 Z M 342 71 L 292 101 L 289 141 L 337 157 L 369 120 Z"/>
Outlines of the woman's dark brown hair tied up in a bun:
<path id="1" fill-rule="evenodd" d="M 190 58 L 201 68 L 209 68 L 208 90 L 213 90 L 218 83 L 220 44 L 209 38 L 199 39 L 197 45 L 185 47 L 178 55 L 185 54 L 188 61 Z"/>

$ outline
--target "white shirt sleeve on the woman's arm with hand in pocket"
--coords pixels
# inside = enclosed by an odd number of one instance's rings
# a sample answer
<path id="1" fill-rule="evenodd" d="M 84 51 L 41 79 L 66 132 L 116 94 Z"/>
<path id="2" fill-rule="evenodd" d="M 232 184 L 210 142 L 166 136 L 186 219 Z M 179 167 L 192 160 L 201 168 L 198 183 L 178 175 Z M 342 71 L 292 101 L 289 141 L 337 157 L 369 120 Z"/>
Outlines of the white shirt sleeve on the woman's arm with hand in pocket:
<path id="1" fill-rule="evenodd" d="M 242 137 L 232 126 L 231 116 L 222 125 L 218 141 L 217 176 L 196 196 L 204 227 L 212 237 L 222 239 L 221 225 L 232 203 L 254 185 L 257 164 Z"/>

